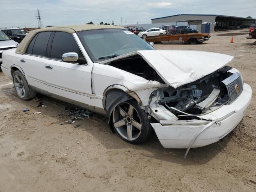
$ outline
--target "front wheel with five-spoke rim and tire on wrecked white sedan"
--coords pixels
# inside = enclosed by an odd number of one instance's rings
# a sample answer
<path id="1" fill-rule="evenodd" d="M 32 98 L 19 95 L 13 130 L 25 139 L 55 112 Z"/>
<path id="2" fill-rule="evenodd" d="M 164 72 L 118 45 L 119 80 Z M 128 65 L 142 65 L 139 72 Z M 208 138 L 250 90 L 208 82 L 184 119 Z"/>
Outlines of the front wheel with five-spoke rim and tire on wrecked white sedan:
<path id="1" fill-rule="evenodd" d="M 150 136 L 151 127 L 148 115 L 140 109 L 135 100 L 118 104 L 110 118 L 115 132 L 128 143 L 140 144 Z"/>

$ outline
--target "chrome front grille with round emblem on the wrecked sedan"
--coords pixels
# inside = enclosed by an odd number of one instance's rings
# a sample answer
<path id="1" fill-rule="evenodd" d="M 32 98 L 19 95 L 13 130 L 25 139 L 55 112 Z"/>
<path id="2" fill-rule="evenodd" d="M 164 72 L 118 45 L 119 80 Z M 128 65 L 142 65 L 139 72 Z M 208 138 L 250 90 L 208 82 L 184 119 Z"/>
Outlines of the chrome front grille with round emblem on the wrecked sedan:
<path id="1" fill-rule="evenodd" d="M 226 88 L 228 90 L 228 104 L 230 104 L 241 94 L 243 90 L 242 78 L 240 74 L 236 72 L 222 82 L 226 85 Z"/>

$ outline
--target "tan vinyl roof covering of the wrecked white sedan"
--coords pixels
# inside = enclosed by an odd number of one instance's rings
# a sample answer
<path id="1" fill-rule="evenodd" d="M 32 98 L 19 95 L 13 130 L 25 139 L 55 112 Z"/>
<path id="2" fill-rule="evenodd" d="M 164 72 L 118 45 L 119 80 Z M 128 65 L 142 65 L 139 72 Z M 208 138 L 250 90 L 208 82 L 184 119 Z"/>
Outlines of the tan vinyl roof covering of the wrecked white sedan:
<path id="1" fill-rule="evenodd" d="M 16 53 L 24 54 L 28 48 L 30 41 L 34 38 L 36 34 L 39 32 L 46 31 L 59 31 L 59 32 L 67 32 L 74 33 L 78 31 L 86 31 L 86 30 L 97 30 L 97 29 L 124 29 L 121 26 L 114 25 L 70 25 L 70 26 L 54 26 L 54 27 L 46 27 L 37 30 L 30 31 L 26 37 L 22 40 L 22 42 L 18 45 L 16 49 Z"/>

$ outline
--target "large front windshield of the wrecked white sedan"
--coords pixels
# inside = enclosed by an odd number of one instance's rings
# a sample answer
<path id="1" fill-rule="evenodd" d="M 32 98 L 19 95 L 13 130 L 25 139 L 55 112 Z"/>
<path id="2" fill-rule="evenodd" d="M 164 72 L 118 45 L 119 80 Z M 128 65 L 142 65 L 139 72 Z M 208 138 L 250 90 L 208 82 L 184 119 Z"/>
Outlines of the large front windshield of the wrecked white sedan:
<path id="1" fill-rule="evenodd" d="M 137 50 L 154 50 L 150 44 L 124 29 L 81 31 L 77 35 L 94 62 Z"/>

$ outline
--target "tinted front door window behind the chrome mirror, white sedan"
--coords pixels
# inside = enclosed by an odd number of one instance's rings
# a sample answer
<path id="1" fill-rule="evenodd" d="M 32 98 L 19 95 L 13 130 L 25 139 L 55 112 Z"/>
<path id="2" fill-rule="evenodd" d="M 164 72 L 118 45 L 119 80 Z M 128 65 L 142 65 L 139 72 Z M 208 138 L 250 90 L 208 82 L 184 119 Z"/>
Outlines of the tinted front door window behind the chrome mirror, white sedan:
<path id="1" fill-rule="evenodd" d="M 76 52 L 80 60 L 85 60 L 72 34 L 55 32 L 52 40 L 51 58 L 62 60 L 67 52 Z"/>

